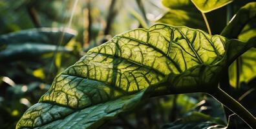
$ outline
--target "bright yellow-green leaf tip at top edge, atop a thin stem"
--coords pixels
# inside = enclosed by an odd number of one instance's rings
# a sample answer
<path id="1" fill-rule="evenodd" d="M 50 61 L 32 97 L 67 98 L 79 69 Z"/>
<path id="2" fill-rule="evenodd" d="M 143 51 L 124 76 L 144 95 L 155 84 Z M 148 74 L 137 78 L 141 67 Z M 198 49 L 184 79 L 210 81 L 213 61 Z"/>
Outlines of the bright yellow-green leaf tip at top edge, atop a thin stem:
<path id="1" fill-rule="evenodd" d="M 211 12 L 212 10 L 216 10 L 222 6 L 228 5 L 233 0 L 191 0 L 195 6 L 197 6 L 198 10 L 203 13 Z"/>

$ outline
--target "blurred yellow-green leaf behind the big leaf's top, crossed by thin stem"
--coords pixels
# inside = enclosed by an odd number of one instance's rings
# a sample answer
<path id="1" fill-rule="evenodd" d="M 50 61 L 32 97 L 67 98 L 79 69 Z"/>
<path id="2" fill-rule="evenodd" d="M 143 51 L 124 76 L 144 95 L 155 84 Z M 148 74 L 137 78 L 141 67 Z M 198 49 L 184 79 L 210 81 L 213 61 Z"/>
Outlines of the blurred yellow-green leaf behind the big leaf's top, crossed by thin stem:
<path id="1" fill-rule="evenodd" d="M 162 5 L 166 6 L 168 10 L 156 22 L 173 26 L 187 26 L 208 32 L 202 13 L 190 0 L 162 0 Z M 222 8 L 205 14 L 211 34 L 220 34 L 226 26 L 226 21 L 217 20 L 226 19 L 226 14 L 223 14 L 223 11 L 226 10 Z"/>

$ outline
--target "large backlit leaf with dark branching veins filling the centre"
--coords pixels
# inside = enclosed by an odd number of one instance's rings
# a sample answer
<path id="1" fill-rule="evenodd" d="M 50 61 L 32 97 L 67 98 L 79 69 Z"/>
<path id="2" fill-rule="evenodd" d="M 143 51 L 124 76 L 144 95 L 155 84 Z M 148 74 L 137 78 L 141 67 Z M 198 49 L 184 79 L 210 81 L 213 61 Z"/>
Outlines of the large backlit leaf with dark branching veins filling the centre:
<path id="1" fill-rule="evenodd" d="M 116 35 L 59 74 L 17 128 L 95 128 L 145 93 L 209 92 L 251 43 L 162 24 Z"/>

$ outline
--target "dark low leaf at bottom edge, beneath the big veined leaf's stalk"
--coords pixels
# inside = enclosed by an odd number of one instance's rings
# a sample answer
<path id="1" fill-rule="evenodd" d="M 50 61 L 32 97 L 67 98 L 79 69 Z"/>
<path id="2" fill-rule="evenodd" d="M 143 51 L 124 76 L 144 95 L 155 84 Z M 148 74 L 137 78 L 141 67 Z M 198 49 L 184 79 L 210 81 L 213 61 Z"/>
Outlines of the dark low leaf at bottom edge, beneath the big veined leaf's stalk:
<path id="1" fill-rule="evenodd" d="M 178 119 L 177 121 L 165 124 L 162 129 L 180 129 L 180 128 L 194 128 L 194 129 L 211 129 L 224 128 L 224 122 L 218 118 L 211 117 L 200 112 L 191 112 L 191 114 Z"/>

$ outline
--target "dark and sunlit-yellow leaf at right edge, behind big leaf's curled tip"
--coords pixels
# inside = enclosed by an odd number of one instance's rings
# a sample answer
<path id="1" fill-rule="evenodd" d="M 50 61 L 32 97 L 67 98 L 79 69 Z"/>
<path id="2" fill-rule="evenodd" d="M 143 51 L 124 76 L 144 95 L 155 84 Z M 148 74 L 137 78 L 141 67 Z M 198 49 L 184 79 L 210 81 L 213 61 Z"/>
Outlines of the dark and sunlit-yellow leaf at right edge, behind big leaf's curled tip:
<path id="1" fill-rule="evenodd" d="M 248 41 L 256 37 L 256 3 L 248 3 L 240 8 L 234 19 L 223 30 L 222 35 L 229 38 L 238 38 L 241 41 Z M 256 77 L 256 49 L 251 48 L 240 56 L 237 72 L 237 63 L 229 66 L 229 79 L 232 86 L 237 84 L 237 73 L 239 73 L 239 83 L 248 82 Z"/>

